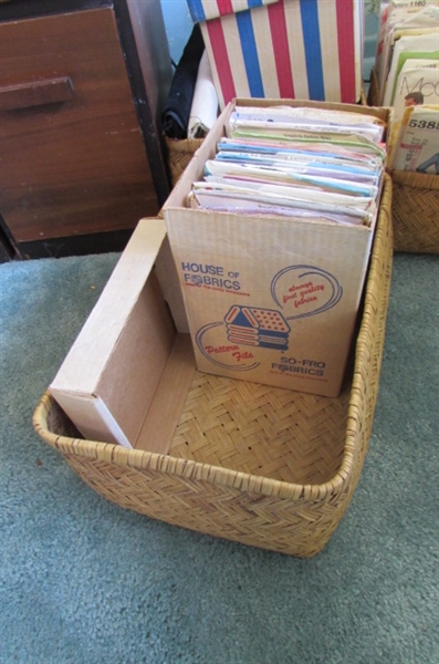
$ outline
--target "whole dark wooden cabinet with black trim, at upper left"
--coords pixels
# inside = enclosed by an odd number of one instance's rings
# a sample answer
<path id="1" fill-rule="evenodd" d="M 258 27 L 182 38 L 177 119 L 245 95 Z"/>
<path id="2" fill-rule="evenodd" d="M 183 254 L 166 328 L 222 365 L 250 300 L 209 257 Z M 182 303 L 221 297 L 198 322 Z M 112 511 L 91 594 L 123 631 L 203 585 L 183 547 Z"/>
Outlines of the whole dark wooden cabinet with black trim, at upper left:
<path id="1" fill-rule="evenodd" d="M 22 258 L 122 249 L 169 191 L 159 1 L 12 0 L 0 58 L 2 235 Z"/>

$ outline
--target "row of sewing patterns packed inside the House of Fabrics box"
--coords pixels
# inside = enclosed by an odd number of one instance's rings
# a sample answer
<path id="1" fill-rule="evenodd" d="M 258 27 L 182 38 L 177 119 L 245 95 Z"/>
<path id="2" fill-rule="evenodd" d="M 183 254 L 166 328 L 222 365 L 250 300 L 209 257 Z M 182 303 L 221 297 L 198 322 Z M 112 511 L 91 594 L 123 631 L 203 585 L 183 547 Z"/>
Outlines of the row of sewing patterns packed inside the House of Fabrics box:
<path id="1" fill-rule="evenodd" d="M 386 162 L 385 129 L 383 120 L 362 113 L 237 106 L 189 205 L 370 226 Z"/>

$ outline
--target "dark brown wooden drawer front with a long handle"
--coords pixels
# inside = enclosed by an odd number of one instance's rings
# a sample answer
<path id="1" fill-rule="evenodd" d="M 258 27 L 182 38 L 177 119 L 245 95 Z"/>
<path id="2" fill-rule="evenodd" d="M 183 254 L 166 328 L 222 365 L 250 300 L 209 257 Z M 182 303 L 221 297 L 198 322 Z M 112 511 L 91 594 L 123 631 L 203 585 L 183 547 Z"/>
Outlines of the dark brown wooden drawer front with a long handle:
<path id="1" fill-rule="evenodd" d="M 0 214 L 14 240 L 156 215 L 112 9 L 3 22 L 0 58 Z"/>

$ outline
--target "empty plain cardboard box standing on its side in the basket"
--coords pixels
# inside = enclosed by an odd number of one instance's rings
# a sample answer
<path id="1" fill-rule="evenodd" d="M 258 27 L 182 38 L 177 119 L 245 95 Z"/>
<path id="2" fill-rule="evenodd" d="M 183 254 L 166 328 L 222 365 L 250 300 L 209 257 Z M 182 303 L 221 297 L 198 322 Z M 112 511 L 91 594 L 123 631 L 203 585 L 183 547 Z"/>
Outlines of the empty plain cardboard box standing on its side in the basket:
<path id="1" fill-rule="evenodd" d="M 50 385 L 90 440 L 135 446 L 163 378 L 176 335 L 153 269 L 165 238 L 161 219 L 139 221 Z"/>

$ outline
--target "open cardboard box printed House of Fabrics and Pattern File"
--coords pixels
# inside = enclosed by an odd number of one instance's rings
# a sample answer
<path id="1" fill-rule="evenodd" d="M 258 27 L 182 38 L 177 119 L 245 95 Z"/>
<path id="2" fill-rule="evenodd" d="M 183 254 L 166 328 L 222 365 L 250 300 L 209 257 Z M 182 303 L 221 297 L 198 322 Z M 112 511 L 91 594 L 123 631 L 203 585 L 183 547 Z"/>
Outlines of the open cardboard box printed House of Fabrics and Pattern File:
<path id="1" fill-rule="evenodd" d="M 385 108 L 282 100 L 293 106 Z M 326 396 L 341 390 L 374 226 L 292 222 L 187 207 L 237 105 L 222 112 L 164 206 L 197 367 L 205 373 Z"/>

